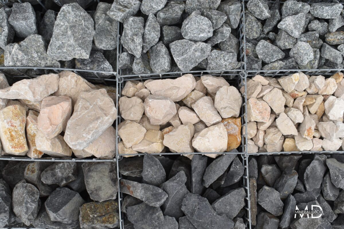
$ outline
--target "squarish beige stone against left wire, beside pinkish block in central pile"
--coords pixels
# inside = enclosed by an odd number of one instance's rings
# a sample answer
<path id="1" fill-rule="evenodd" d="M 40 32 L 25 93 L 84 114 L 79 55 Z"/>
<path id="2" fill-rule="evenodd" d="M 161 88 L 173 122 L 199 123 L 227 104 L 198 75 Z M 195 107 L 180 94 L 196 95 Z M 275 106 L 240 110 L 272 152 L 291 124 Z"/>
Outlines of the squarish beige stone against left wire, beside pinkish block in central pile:
<path id="1" fill-rule="evenodd" d="M 128 98 L 123 96 L 118 100 L 118 108 L 121 116 L 125 120 L 139 122 L 143 115 L 143 102 L 139 97 Z"/>

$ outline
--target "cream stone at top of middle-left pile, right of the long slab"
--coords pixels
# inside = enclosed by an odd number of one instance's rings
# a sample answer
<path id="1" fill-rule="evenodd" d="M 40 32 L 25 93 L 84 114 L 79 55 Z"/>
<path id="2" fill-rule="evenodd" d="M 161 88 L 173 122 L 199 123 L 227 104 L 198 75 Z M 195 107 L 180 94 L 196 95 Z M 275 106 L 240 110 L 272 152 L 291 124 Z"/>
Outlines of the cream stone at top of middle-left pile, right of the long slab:
<path id="1" fill-rule="evenodd" d="M 95 85 L 72 71 L 62 71 L 58 73 L 60 77 L 58 81 L 58 90 L 54 93 L 56 96 L 66 95 L 72 99 L 73 104 L 76 103 L 79 94 L 83 91 L 96 89 Z"/>

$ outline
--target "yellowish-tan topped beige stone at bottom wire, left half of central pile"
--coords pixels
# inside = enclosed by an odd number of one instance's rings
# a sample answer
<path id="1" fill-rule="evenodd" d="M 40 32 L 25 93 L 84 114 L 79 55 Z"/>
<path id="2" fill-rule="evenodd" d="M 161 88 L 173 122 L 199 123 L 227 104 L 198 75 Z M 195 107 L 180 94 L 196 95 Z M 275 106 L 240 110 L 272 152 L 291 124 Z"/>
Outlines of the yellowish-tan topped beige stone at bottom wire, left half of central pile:
<path id="1" fill-rule="evenodd" d="M 164 149 L 163 140 L 160 130 L 148 130 L 142 141 L 131 148 L 141 153 L 160 153 Z"/>

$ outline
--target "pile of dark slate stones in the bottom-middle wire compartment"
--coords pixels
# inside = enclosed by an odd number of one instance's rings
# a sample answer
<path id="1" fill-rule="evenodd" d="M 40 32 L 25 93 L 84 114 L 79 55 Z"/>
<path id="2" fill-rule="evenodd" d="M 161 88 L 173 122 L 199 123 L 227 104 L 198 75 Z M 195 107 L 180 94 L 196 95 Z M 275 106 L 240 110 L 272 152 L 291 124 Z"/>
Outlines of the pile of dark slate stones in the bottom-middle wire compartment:
<path id="1" fill-rule="evenodd" d="M 244 166 L 237 154 L 173 158 L 146 153 L 119 161 L 125 228 L 245 229 Z"/>

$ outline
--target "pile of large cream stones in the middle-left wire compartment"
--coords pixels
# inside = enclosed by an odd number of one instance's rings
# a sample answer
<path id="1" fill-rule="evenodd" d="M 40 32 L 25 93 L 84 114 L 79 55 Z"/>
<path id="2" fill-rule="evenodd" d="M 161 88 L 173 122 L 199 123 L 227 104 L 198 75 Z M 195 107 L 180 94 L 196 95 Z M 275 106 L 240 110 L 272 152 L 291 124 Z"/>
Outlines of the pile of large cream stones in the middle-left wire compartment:
<path id="1" fill-rule="evenodd" d="M 0 74 L 0 88 L 1 155 L 115 157 L 116 88 L 71 71 L 12 86 Z"/>

